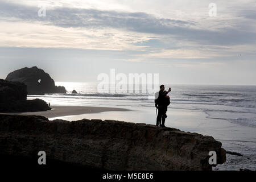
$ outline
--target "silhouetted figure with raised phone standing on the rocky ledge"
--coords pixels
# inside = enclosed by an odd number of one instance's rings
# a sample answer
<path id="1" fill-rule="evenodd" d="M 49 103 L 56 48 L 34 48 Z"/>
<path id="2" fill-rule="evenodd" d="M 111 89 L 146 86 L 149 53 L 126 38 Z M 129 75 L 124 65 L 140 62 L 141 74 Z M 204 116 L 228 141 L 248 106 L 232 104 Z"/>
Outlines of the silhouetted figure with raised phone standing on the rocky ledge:
<path id="1" fill-rule="evenodd" d="M 155 99 L 155 107 L 158 109 L 158 116 L 156 117 L 156 126 L 160 125 L 161 127 L 166 127 L 164 125 L 164 122 L 166 121 L 167 118 L 167 106 L 170 104 L 170 97 L 167 96 L 167 94 L 171 92 L 171 88 L 169 88 L 168 91 L 164 89 L 164 85 L 160 85 L 160 90 Z"/>

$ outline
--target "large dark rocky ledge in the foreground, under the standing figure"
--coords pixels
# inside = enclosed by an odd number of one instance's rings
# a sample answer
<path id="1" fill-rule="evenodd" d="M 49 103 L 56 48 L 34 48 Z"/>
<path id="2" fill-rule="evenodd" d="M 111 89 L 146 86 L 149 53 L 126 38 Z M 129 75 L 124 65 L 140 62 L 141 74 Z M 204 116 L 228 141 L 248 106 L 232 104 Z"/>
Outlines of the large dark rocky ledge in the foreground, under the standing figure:
<path id="1" fill-rule="evenodd" d="M 48 121 L 40 116 L 0 115 L 0 155 L 60 160 L 110 170 L 212 170 L 226 160 L 221 142 L 212 137 L 143 123 Z"/>

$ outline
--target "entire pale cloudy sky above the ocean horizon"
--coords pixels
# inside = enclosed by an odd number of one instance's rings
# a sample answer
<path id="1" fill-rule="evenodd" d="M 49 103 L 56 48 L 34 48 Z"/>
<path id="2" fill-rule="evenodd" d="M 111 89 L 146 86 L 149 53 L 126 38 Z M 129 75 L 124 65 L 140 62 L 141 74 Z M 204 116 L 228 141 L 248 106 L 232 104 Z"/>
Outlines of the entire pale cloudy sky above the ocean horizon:
<path id="1" fill-rule="evenodd" d="M 37 66 L 55 81 L 115 69 L 163 84 L 256 85 L 255 59 L 255 0 L 0 0 L 0 78 Z"/>

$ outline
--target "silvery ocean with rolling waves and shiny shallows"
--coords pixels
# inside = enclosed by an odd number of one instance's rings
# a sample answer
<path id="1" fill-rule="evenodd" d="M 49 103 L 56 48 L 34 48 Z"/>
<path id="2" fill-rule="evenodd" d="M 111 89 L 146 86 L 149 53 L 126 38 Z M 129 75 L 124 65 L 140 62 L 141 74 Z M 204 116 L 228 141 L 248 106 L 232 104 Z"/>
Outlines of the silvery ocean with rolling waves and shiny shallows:
<path id="1" fill-rule="evenodd" d="M 154 94 L 98 93 L 98 83 L 56 82 L 65 86 L 67 94 L 28 96 L 40 98 L 51 105 L 122 107 L 131 111 L 108 111 L 97 114 L 57 117 L 73 121 L 77 119 L 114 119 L 126 122 L 155 125 Z M 227 162 L 214 170 L 256 170 L 256 86 L 237 85 L 165 85 L 171 87 L 168 94 L 166 126 L 203 135 L 213 136 L 222 142 L 227 151 L 243 156 L 227 154 Z M 75 89 L 78 94 L 72 94 Z M 56 118 L 49 118 L 56 119 Z"/>

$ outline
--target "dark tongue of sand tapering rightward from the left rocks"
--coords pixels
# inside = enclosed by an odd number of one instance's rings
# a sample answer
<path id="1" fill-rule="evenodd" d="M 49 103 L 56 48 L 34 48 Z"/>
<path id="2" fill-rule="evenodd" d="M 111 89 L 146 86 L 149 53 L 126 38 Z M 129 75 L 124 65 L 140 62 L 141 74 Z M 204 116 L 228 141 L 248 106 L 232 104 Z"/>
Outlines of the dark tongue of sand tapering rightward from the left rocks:
<path id="1" fill-rule="evenodd" d="M 0 114 L 18 114 L 18 115 L 42 115 L 46 118 L 64 117 L 68 115 L 80 114 L 96 114 L 106 111 L 130 111 L 130 109 L 118 107 L 95 107 L 95 106 L 56 106 L 52 105 L 51 110 L 38 112 L 23 112 L 23 113 L 0 113 Z"/>

